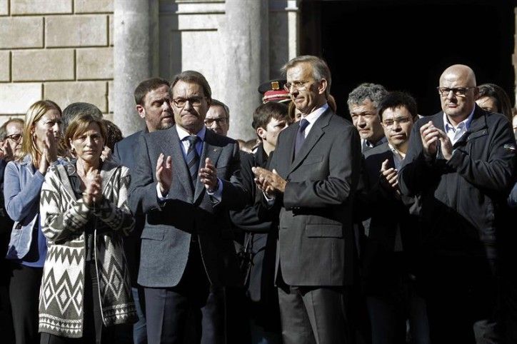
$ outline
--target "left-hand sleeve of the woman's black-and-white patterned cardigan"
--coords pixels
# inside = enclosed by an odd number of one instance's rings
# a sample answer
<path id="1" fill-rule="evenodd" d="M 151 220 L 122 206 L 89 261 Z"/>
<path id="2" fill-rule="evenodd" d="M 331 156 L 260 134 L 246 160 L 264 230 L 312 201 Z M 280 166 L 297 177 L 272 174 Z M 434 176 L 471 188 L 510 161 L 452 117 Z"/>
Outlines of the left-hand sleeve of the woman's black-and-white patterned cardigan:
<path id="1" fill-rule="evenodd" d="M 67 206 L 66 202 L 71 204 Z M 79 236 L 91 212 L 92 209 L 82 199 L 66 199 L 57 168 L 50 168 L 41 188 L 40 199 L 41 231 L 46 238 L 51 243 L 58 243 Z"/>

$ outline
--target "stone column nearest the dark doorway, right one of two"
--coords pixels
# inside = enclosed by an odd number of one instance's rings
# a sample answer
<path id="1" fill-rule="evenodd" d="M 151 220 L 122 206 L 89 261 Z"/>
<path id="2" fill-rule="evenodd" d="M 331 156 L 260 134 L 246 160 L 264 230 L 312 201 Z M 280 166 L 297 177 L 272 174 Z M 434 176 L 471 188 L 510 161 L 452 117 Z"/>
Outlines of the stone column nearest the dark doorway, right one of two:
<path id="1" fill-rule="evenodd" d="M 226 0 L 226 19 L 221 27 L 225 58 L 222 77 L 224 99 L 230 108 L 232 138 L 249 140 L 256 137 L 251 120 L 261 104 L 257 88 L 268 80 L 268 1 Z"/>

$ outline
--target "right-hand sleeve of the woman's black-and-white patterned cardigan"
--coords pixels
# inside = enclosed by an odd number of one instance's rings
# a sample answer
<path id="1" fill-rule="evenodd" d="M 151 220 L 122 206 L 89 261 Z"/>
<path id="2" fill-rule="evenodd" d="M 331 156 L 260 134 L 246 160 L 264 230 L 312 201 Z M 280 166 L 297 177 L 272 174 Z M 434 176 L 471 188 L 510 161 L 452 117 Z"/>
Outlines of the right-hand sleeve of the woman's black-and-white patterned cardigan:
<path id="1" fill-rule="evenodd" d="M 112 176 L 113 192 L 118 193 L 117 203 L 111 202 L 106 197 L 103 198 L 101 204 L 94 208 L 94 216 L 111 228 L 113 231 L 122 231 L 127 236 L 135 226 L 135 221 L 131 211 L 129 210 L 128 189 L 131 183 L 131 176 L 126 167 L 121 167 L 120 173 L 114 173 Z"/>

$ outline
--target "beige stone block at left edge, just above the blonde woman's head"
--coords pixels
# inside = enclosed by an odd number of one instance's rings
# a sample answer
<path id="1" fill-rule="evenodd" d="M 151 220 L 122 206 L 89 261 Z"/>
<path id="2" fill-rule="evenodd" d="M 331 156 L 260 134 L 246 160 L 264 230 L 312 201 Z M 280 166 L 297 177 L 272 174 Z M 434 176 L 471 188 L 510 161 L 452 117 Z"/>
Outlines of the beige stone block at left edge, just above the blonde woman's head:
<path id="1" fill-rule="evenodd" d="M 41 100 L 41 84 L 0 84 L 0 94 L 2 113 L 26 113 L 32 103 Z"/>

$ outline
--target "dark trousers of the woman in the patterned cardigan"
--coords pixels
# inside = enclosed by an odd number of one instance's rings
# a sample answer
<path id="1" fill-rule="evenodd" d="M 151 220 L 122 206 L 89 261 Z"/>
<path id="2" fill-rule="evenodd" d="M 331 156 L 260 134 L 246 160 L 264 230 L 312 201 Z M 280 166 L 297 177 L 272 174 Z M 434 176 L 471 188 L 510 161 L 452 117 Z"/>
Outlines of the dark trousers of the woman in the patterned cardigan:
<path id="1" fill-rule="evenodd" d="M 102 323 L 99 283 L 94 261 L 87 261 L 84 266 L 83 308 L 82 338 L 66 338 L 50 333 L 41 333 L 41 344 L 101 344 L 114 342 L 114 328 L 106 328 Z"/>

